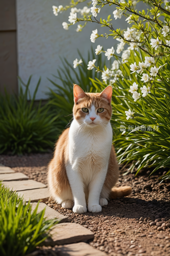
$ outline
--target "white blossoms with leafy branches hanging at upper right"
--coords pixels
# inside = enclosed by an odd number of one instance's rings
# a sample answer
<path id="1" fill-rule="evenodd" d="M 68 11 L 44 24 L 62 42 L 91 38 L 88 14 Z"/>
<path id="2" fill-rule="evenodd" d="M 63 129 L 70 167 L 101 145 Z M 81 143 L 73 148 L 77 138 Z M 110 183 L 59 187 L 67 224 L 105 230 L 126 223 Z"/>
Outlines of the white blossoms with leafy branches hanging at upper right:
<path id="1" fill-rule="evenodd" d="M 105 2 L 104 2 L 105 1 Z M 140 92 L 138 89 L 138 84 L 136 82 L 132 82 L 132 85 L 130 85 L 129 92 L 132 93 L 132 98 L 136 102 L 137 100 L 140 101 L 142 97 L 146 97 L 148 93 L 151 93 L 152 85 L 153 88 L 158 88 L 157 85 L 155 85 L 155 81 L 157 80 L 161 84 L 165 84 L 170 82 L 170 78 L 167 77 L 169 74 L 168 68 L 167 70 L 164 70 L 164 73 L 160 72 L 161 68 L 166 65 L 165 59 L 169 58 L 169 52 L 170 52 L 170 22 L 168 21 L 168 12 L 170 12 L 170 4 L 166 1 L 165 7 L 159 9 L 159 13 L 157 10 L 157 7 L 152 8 L 152 10 L 149 10 L 150 14 L 146 14 L 144 10 L 141 12 L 136 10 L 136 4 L 137 1 L 127 1 L 127 0 L 120 0 L 115 3 L 114 1 L 106 1 L 103 0 L 102 2 L 100 0 L 92 0 L 92 6 L 84 6 L 83 9 L 78 9 L 76 6 L 84 2 L 84 0 L 78 0 L 77 2 L 71 1 L 70 7 L 63 5 L 54 6 L 53 5 L 53 13 L 55 16 L 57 16 L 59 13 L 62 13 L 63 11 L 66 11 L 70 8 L 70 16 L 69 16 L 69 22 L 63 22 L 63 28 L 65 30 L 69 29 L 70 25 L 74 25 L 78 22 L 78 26 L 76 28 L 77 32 L 82 31 L 82 29 L 85 27 L 87 22 L 95 22 L 95 24 L 100 24 L 102 27 L 105 27 L 109 31 L 111 31 L 110 34 L 105 33 L 105 35 L 99 35 L 98 30 L 94 29 L 92 30 L 90 40 L 92 43 L 96 42 L 96 39 L 98 37 L 104 37 L 106 36 L 112 36 L 112 38 L 116 38 L 118 41 L 117 47 L 113 47 L 110 45 L 108 47 L 107 51 L 104 51 L 103 46 L 98 44 L 95 48 L 95 54 L 99 55 L 102 52 L 104 52 L 104 55 L 107 57 L 107 60 L 110 60 L 112 57 L 115 58 L 115 60 L 112 63 L 112 67 L 109 68 L 108 66 L 104 68 L 99 68 L 95 66 L 96 59 L 93 59 L 92 61 L 89 61 L 87 69 L 92 70 L 93 68 L 96 69 L 96 72 L 101 72 L 101 78 L 103 82 L 108 85 L 114 85 L 114 83 L 119 79 L 125 79 L 125 83 L 127 80 L 131 81 L 131 79 L 134 77 L 129 76 L 128 72 L 123 72 L 122 70 L 125 67 L 128 67 L 127 62 L 129 62 L 129 59 L 133 59 L 130 61 L 134 62 L 131 63 L 130 66 L 130 74 L 135 73 L 136 79 L 140 79 L 143 83 L 149 83 L 149 86 L 143 85 L 143 87 L 140 87 Z M 104 6 L 111 6 L 114 5 L 111 3 L 114 2 L 116 4 L 116 9 L 111 13 L 111 15 L 108 15 L 107 20 L 103 20 L 103 17 L 97 17 L 99 16 L 99 13 L 101 11 L 101 8 Z M 151 5 L 153 3 L 150 3 Z M 160 6 L 163 4 L 160 2 Z M 134 9 L 135 8 L 135 9 Z M 130 11 L 130 15 L 127 14 L 128 9 Z M 127 12 L 124 12 L 126 10 Z M 136 11 L 134 11 L 136 10 Z M 167 11 L 166 11 L 167 10 Z M 101 13 L 100 13 L 101 14 Z M 108 13 L 109 14 L 109 13 Z M 165 14 L 164 21 L 159 20 L 159 16 L 162 14 Z M 113 19 L 121 19 L 122 15 L 126 16 L 126 21 L 128 24 L 131 24 L 134 22 L 134 25 L 132 27 L 128 27 L 126 30 L 121 32 L 120 29 L 115 29 L 115 25 L 111 23 L 110 21 Z M 153 15 L 153 18 L 151 17 Z M 169 15 L 170 16 L 170 15 Z M 81 17 L 81 18 L 80 18 Z M 97 17 L 97 18 L 96 18 Z M 143 18 L 141 21 L 140 17 Z M 80 24 L 80 21 L 84 21 L 84 24 Z M 146 22 L 145 22 L 146 21 Z M 145 23 L 145 25 L 144 25 Z M 112 27 L 113 24 L 113 27 Z M 158 30 L 159 28 L 159 30 Z M 115 49 L 114 49 L 115 48 Z M 131 52 L 132 51 L 132 52 Z M 143 54 L 146 54 L 147 56 L 144 57 Z M 116 55 L 120 54 L 120 55 Z M 134 56 L 136 59 L 134 59 Z M 166 56 L 166 58 L 165 58 Z M 82 60 L 75 59 L 73 61 L 73 67 L 76 68 L 78 65 L 81 65 Z M 126 64 L 125 64 L 126 63 Z M 129 63 L 129 64 L 130 64 Z M 138 64 L 137 64 L 138 63 Z M 165 63 L 165 64 L 164 64 Z M 164 64 L 164 65 L 163 65 Z M 161 66 L 160 66 L 161 65 Z M 125 68 L 126 69 L 126 68 Z M 123 76 L 124 74 L 124 76 Z M 159 77 L 158 77 L 159 76 Z M 165 77 L 164 77 L 165 76 Z M 169 76 L 169 75 L 168 75 Z M 160 79 L 155 78 L 158 77 Z M 121 82 L 121 81 L 120 81 Z M 141 82 L 140 82 L 141 83 Z M 158 88 L 160 89 L 160 88 Z M 164 88 L 165 89 L 165 88 Z M 124 95 L 124 94 L 123 94 Z M 122 96 L 121 96 L 122 97 Z M 127 120 L 134 118 L 134 112 L 129 109 L 129 111 L 125 111 Z"/>

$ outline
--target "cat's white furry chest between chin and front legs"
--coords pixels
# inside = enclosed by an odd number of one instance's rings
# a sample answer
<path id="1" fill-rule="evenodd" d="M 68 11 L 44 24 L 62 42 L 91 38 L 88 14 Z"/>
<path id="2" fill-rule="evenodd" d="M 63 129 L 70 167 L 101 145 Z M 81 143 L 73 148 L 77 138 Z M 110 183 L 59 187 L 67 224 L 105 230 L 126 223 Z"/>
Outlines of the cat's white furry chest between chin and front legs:
<path id="1" fill-rule="evenodd" d="M 112 145 L 112 129 L 108 124 L 81 130 L 77 121 L 72 122 L 69 131 L 69 160 L 78 171 L 82 168 L 95 171 L 108 164 Z"/>

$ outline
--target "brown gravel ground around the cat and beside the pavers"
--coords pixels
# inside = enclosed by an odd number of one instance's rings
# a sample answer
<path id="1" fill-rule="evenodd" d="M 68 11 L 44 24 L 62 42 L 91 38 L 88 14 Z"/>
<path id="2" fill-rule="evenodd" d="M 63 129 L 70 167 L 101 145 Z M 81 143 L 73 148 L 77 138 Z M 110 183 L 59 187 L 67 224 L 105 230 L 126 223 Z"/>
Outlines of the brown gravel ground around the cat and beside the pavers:
<path id="1" fill-rule="evenodd" d="M 51 157 L 51 154 L 1 155 L 0 164 L 46 184 L 46 166 Z M 150 171 L 137 177 L 134 174 L 120 175 L 117 186 L 131 186 L 132 194 L 109 201 L 100 213 L 77 214 L 54 202 L 46 204 L 69 216 L 70 222 L 92 230 L 95 238 L 89 244 L 109 256 L 170 256 L 169 180 L 159 184 L 157 178 L 162 173 L 151 177 L 149 174 Z M 48 255 L 56 255 L 55 248 L 53 252 L 50 248 L 43 250 L 42 255 L 47 250 Z"/>

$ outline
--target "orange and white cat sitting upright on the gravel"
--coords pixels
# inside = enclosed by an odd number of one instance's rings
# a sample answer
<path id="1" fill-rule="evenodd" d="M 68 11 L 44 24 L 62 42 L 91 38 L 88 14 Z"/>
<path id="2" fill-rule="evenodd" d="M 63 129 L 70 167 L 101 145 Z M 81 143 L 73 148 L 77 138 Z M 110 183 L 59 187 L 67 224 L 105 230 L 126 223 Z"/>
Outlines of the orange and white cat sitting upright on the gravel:
<path id="1" fill-rule="evenodd" d="M 73 212 L 101 212 L 109 199 L 127 196 L 131 187 L 113 188 L 119 167 L 112 145 L 112 86 L 85 93 L 74 84 L 73 121 L 63 131 L 48 166 L 51 198 Z M 74 203 L 74 206 L 73 206 Z"/>

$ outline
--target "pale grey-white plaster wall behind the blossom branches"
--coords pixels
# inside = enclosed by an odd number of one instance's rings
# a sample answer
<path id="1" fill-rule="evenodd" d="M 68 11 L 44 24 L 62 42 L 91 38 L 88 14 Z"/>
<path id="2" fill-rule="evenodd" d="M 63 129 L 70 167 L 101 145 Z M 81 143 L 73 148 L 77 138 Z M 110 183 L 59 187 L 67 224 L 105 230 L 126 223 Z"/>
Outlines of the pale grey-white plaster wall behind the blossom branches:
<path id="1" fill-rule="evenodd" d="M 113 38 L 106 40 L 100 37 L 95 43 L 91 43 L 90 35 L 93 29 L 97 28 L 100 34 L 106 33 L 96 23 L 89 22 L 83 32 L 79 33 L 75 31 L 78 23 L 70 26 L 68 31 L 64 30 L 62 22 L 69 23 L 70 10 L 55 16 L 52 5 L 62 4 L 64 6 L 69 3 L 70 0 L 17 0 L 18 74 L 24 82 L 30 75 L 33 75 L 30 84 L 32 95 L 41 76 L 37 100 L 46 99 L 45 92 L 48 92 L 48 87 L 54 88 L 47 77 L 60 83 L 51 76 L 51 74 L 57 75 L 56 69 L 62 66 L 59 56 L 73 63 L 73 60 L 78 58 L 77 49 L 81 51 L 84 58 L 87 58 L 91 46 L 95 49 L 100 44 L 107 49 L 117 42 Z M 83 6 L 85 3 L 81 3 L 80 7 L 83 8 Z M 112 9 L 115 10 L 115 7 Z M 99 19 L 100 17 L 106 18 L 108 14 L 112 14 L 113 10 L 108 13 L 108 9 L 103 8 Z M 114 19 L 113 22 L 116 23 L 115 27 L 120 27 L 120 20 Z"/>

